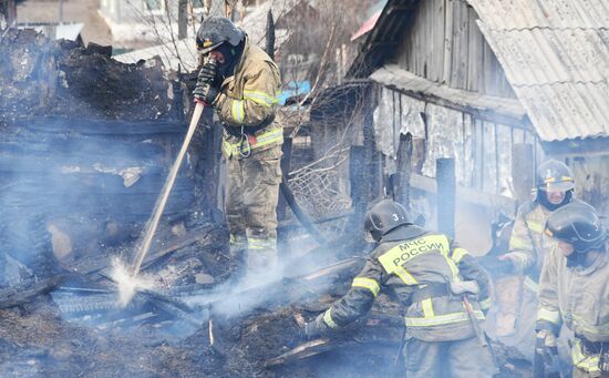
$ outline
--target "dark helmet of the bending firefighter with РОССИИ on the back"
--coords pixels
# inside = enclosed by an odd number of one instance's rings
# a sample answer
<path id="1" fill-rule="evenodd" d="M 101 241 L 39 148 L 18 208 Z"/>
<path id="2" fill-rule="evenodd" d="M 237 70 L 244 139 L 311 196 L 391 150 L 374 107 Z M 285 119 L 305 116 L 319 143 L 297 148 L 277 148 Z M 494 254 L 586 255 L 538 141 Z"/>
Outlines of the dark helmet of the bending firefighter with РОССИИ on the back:
<path id="1" fill-rule="evenodd" d="M 393 228 L 411 224 L 406 210 L 392 200 L 381 200 L 365 213 L 364 227 L 379 242 Z"/>

